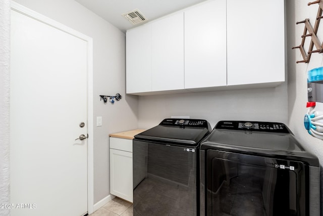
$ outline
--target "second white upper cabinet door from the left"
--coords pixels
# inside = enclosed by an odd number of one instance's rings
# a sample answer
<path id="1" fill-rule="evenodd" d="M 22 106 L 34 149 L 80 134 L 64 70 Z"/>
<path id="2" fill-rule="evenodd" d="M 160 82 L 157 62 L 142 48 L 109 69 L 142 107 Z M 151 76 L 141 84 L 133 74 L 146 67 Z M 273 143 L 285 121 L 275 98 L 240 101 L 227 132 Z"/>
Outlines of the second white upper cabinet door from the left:
<path id="1" fill-rule="evenodd" d="M 184 89 L 184 13 L 151 23 L 152 91 Z"/>

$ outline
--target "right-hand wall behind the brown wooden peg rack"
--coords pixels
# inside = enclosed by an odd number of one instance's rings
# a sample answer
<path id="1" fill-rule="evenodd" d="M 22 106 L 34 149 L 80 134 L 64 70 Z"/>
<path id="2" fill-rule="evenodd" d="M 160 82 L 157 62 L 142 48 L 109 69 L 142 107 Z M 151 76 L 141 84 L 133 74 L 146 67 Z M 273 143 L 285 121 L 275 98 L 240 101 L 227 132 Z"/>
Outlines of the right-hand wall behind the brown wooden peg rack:
<path id="1" fill-rule="evenodd" d="M 304 128 L 304 115 L 307 112 L 307 71 L 316 67 L 323 66 L 323 54 L 313 53 L 308 64 L 298 63 L 302 60 L 299 49 L 292 50 L 292 47 L 301 44 L 301 35 L 304 31 L 304 24 L 296 25 L 296 22 L 310 19 L 310 23 L 314 26 L 318 5 L 307 6 L 307 0 L 286 1 L 287 5 L 287 51 L 288 51 L 288 119 L 289 126 L 295 136 L 304 146 L 315 155 L 318 156 L 320 164 L 323 163 L 323 141 L 310 136 Z M 323 41 L 323 23 L 317 32 L 320 41 Z M 305 40 L 305 51 L 308 51 L 310 38 Z M 323 195 L 323 170 L 321 172 L 321 203 Z M 323 212 L 321 206 L 321 212 Z M 322 213 L 321 213 L 322 214 Z"/>

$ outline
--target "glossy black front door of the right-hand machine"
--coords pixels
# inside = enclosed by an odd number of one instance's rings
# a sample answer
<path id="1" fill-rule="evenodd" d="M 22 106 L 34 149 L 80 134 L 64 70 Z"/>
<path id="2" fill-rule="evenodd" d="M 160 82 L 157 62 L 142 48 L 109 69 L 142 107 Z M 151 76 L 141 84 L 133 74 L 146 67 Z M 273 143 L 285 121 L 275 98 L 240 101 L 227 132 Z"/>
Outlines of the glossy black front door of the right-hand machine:
<path id="1" fill-rule="evenodd" d="M 305 168 L 298 161 L 207 150 L 207 215 L 308 215 Z"/>

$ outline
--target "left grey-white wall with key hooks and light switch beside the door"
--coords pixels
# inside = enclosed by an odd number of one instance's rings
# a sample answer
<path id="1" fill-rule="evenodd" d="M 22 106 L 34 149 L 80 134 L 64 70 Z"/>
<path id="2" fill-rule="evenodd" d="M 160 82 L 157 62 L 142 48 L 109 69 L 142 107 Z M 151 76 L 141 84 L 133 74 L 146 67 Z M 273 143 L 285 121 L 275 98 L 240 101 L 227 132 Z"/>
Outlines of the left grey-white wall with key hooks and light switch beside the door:
<path id="1" fill-rule="evenodd" d="M 138 127 L 138 99 L 125 94 L 125 34 L 73 0 L 16 0 L 93 38 L 94 203 L 110 194 L 109 134 Z M 123 98 L 103 104 L 99 95 Z M 96 116 L 102 126 L 96 127 Z"/>

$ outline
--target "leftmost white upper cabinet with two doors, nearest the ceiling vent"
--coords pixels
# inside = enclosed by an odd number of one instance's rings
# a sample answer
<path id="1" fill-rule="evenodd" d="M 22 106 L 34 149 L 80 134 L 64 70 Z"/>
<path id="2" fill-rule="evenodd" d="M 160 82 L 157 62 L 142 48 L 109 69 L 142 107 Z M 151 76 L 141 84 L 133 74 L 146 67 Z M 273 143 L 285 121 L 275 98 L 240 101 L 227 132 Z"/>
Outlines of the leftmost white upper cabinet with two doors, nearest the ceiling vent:
<path id="1" fill-rule="evenodd" d="M 184 13 L 127 31 L 127 94 L 184 89 Z"/>

